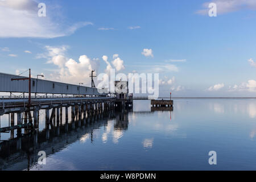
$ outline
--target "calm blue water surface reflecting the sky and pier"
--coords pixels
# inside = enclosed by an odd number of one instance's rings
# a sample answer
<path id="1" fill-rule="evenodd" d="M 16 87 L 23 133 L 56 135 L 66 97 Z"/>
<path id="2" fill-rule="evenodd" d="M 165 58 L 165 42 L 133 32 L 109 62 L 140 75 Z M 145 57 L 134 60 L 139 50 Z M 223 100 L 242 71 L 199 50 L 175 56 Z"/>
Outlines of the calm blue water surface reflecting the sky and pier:
<path id="1" fill-rule="evenodd" d="M 17 139 L 2 144 L 0 168 L 256 170 L 256 100 L 175 100 L 174 111 L 151 111 L 150 101 L 135 101 L 133 111 L 85 126 L 69 122 L 59 134 L 44 130 L 44 117 L 42 111 L 38 135 L 22 137 L 20 150 Z M 46 165 L 37 163 L 40 150 L 46 151 Z M 215 166 L 208 163 L 209 151 L 217 152 Z"/>

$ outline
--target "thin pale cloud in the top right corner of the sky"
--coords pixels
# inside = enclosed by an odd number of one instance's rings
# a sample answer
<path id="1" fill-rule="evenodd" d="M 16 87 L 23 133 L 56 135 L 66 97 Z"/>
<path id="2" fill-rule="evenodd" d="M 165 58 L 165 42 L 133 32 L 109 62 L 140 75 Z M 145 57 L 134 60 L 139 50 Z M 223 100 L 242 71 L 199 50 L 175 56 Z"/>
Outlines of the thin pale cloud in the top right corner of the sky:
<path id="1" fill-rule="evenodd" d="M 230 13 L 233 11 L 238 11 L 241 9 L 256 9 L 255 0 L 214 0 L 211 1 L 217 5 L 217 14 Z M 197 11 L 197 14 L 208 15 L 209 12 L 209 3 L 203 3 L 204 9 Z"/>

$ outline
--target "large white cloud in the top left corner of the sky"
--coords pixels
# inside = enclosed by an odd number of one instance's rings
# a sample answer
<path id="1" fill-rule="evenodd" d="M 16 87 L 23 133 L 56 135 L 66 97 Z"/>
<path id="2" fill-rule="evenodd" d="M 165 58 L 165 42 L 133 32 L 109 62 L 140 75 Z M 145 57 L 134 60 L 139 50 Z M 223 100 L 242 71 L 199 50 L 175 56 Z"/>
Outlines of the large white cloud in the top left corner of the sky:
<path id="1" fill-rule="evenodd" d="M 52 7 L 52 6 L 51 6 Z M 92 24 L 79 22 L 67 25 L 51 19 L 49 6 L 46 17 L 38 16 L 38 2 L 34 0 L 0 1 L 0 38 L 56 38 L 73 34 L 78 28 Z M 60 23 L 61 22 L 61 23 Z"/>

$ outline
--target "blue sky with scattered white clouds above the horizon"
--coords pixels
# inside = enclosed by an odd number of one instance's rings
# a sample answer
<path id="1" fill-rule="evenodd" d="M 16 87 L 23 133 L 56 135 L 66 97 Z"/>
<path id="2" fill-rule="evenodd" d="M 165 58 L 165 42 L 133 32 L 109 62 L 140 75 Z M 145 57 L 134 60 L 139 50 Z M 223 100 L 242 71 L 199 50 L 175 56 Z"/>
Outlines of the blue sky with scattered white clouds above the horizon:
<path id="1" fill-rule="evenodd" d="M 10 1 L 0 2 L 0 72 L 89 85 L 105 55 L 118 72 L 158 72 L 161 96 L 255 96 L 256 1 Z"/>

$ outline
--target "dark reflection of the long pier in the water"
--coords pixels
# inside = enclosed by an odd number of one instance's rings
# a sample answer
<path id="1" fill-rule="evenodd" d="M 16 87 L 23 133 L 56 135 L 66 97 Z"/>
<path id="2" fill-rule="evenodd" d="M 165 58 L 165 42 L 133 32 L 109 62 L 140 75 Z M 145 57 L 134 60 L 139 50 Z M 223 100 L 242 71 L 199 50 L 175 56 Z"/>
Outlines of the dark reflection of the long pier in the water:
<path id="1" fill-rule="evenodd" d="M 115 113 L 119 114 L 115 115 Z M 122 129 L 122 125 L 127 129 L 127 112 L 104 110 L 92 115 L 86 114 L 83 118 L 76 117 L 71 121 L 66 118 L 64 123 L 61 115 L 60 119 L 53 118 L 53 122 L 49 124 L 44 121 L 45 127 L 43 129 L 39 128 L 34 131 L 23 129 L 23 134 L 17 134 L 18 137 L 16 138 L 14 138 L 14 131 L 10 131 L 10 139 L 2 140 L 0 143 L 0 169 L 29 170 L 38 163 L 39 151 L 46 152 L 47 156 L 55 154 L 55 152 L 63 150 L 65 146 L 76 142 L 87 134 L 93 143 L 94 130 L 108 126 L 108 120 L 116 117 L 121 118 L 121 120 L 117 119 L 116 122 L 118 129 Z M 123 123 L 123 118 L 126 118 L 126 123 Z M 122 124 L 119 125 L 119 122 Z M 39 126 L 42 126 L 42 122 Z"/>

